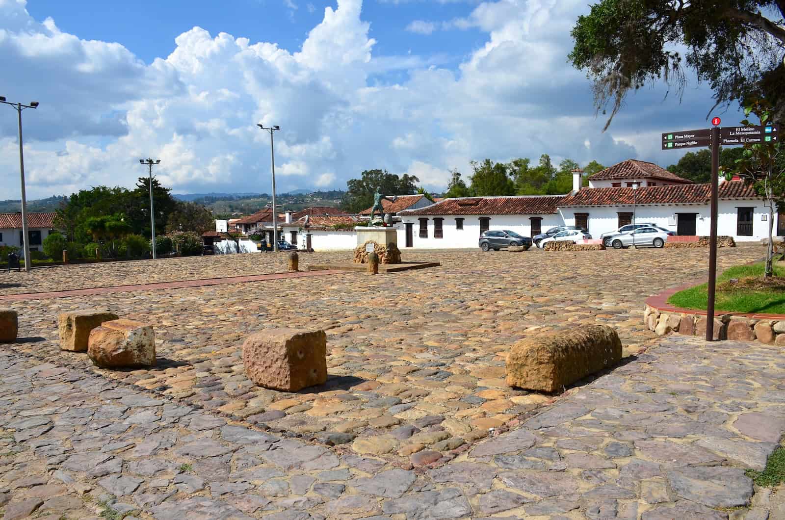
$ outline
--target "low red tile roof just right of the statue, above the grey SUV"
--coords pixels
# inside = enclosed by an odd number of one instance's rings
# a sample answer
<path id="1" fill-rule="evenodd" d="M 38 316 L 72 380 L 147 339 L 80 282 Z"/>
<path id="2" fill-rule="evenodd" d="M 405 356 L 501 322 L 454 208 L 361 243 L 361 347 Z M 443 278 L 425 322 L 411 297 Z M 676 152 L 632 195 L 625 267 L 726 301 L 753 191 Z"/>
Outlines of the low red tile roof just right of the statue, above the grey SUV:
<path id="1" fill-rule="evenodd" d="M 403 211 L 406 215 L 503 215 L 554 214 L 564 195 L 519 195 L 506 197 L 461 197 L 431 206 Z"/>

